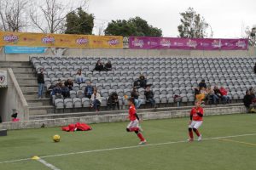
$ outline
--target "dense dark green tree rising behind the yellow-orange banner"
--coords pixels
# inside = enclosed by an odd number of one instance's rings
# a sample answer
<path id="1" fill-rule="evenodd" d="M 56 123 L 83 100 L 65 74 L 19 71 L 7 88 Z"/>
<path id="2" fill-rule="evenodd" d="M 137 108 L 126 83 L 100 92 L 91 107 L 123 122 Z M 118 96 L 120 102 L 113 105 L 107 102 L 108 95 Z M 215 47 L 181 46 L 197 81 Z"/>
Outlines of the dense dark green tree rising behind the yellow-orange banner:
<path id="1" fill-rule="evenodd" d="M 86 13 L 82 8 L 78 8 L 66 16 L 66 34 L 92 34 L 94 26 L 93 14 Z"/>

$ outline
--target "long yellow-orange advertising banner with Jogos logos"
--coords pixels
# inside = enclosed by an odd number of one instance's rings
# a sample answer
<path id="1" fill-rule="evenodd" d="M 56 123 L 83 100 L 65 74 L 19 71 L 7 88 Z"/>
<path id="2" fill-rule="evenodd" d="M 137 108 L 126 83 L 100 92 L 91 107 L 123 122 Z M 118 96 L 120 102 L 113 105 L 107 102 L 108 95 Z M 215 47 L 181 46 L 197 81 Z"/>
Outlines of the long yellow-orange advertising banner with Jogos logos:
<path id="1" fill-rule="evenodd" d="M 0 47 L 1 46 L 123 48 L 123 37 L 0 31 Z"/>

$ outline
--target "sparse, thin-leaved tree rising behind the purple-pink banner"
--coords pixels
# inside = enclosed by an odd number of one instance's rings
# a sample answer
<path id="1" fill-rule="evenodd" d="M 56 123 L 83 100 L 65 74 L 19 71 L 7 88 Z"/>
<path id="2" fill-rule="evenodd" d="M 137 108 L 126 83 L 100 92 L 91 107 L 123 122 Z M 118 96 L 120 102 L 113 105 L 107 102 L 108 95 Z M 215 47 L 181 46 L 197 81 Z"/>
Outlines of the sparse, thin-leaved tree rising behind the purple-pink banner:
<path id="1" fill-rule="evenodd" d="M 181 13 L 181 24 L 177 26 L 179 37 L 203 38 L 207 37 L 208 24 L 201 14 L 196 14 L 194 8 L 188 8 Z"/>

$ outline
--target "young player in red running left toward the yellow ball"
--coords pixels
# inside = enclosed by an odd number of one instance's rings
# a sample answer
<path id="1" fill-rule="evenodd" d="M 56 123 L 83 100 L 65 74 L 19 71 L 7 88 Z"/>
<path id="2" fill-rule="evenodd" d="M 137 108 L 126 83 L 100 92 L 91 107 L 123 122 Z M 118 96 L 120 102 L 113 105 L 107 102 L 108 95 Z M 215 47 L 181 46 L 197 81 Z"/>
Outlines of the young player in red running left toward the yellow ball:
<path id="1" fill-rule="evenodd" d="M 143 138 L 142 128 L 139 126 L 140 118 L 137 116 L 137 112 L 134 105 L 134 99 L 128 99 L 129 109 L 129 119 L 130 123 L 126 127 L 127 132 L 135 132 L 137 133 L 137 137 L 141 140 L 139 144 L 146 144 L 146 139 Z"/>

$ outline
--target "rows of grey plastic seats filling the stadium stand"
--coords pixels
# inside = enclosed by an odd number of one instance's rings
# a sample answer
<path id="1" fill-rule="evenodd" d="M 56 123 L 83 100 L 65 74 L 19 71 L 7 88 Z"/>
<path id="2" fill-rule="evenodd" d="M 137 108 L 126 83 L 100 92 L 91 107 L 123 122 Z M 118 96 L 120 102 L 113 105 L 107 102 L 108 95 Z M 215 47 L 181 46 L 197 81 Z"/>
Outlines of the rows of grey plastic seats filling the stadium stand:
<path id="1" fill-rule="evenodd" d="M 103 63 L 110 60 L 113 71 L 92 71 L 96 61 Z M 102 106 L 107 105 L 109 94 L 116 92 L 119 103 L 125 103 L 124 95 L 131 94 L 133 82 L 140 76 L 147 77 L 152 83 L 154 99 L 157 104 L 168 105 L 174 103 L 174 95 L 182 97 L 182 103 L 192 103 L 195 100 L 194 88 L 201 79 L 205 79 L 207 86 L 224 86 L 229 90 L 233 102 L 241 100 L 247 88 L 255 85 L 253 79 L 252 57 L 56 57 L 31 56 L 32 65 L 39 71 L 44 68 L 45 86 L 55 85 L 71 78 L 75 80 L 79 69 L 102 95 Z M 86 83 L 74 83 L 71 99 L 56 99 L 55 108 L 89 107 L 90 100 L 84 98 Z M 144 89 L 139 89 L 140 99 L 145 104 Z"/>

